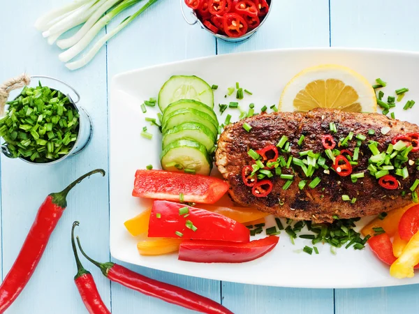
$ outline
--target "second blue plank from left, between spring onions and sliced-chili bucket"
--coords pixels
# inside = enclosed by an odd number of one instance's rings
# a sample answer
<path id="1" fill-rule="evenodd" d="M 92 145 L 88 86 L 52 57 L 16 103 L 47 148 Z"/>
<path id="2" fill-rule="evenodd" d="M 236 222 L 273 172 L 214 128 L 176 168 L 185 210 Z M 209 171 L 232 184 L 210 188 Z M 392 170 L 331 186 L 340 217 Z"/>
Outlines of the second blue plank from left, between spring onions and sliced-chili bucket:
<path id="1" fill-rule="evenodd" d="M 131 13 L 136 8 L 133 8 Z M 124 16 L 119 17 L 119 20 L 122 20 Z M 115 27 L 119 20 L 110 23 L 108 29 Z M 149 8 L 117 38 L 108 43 L 108 82 L 113 75 L 125 70 L 212 54 L 215 54 L 214 38 L 200 30 L 198 26 L 191 27 L 184 22 L 179 12 L 179 1 L 160 1 Z M 150 77 L 150 79 L 154 78 Z M 161 77 L 156 77 L 156 79 L 162 80 Z M 172 283 L 210 297 L 215 301 L 220 301 L 219 281 L 179 276 L 129 264 L 124 265 L 145 276 Z M 113 283 L 112 311 L 114 313 L 188 312 L 179 306 L 146 297 Z"/>

